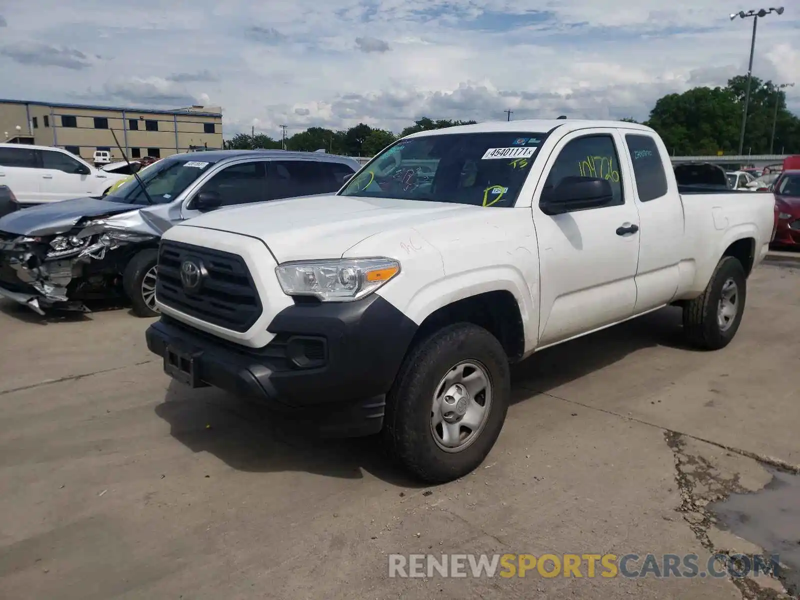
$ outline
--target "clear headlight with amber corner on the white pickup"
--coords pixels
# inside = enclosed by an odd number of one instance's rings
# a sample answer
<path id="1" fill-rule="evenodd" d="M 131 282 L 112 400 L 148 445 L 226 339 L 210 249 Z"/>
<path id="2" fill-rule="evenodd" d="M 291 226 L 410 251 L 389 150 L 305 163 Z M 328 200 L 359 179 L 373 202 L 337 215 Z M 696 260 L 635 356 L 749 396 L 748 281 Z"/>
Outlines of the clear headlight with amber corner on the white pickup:
<path id="1" fill-rule="evenodd" d="M 275 267 L 290 296 L 316 296 L 322 302 L 350 302 L 372 294 L 400 272 L 391 258 L 342 258 L 285 262 Z"/>

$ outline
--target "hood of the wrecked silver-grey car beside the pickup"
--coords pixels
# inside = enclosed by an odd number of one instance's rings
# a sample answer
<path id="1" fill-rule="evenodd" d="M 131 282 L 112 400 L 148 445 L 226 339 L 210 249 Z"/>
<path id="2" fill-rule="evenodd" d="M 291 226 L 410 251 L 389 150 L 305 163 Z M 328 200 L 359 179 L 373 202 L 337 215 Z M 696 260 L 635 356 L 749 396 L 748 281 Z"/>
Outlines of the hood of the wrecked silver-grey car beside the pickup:
<path id="1" fill-rule="evenodd" d="M 0 218 L 0 231 L 17 235 L 63 234 L 85 217 L 119 214 L 141 206 L 99 198 L 75 198 L 18 210 Z"/>

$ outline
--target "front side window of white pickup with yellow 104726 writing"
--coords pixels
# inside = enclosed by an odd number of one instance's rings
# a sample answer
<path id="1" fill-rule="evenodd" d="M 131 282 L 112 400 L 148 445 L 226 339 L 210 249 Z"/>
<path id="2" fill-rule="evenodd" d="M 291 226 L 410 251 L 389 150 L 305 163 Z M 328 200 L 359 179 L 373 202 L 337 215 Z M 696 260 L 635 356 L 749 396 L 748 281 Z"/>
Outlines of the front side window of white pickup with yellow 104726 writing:
<path id="1" fill-rule="evenodd" d="M 543 194 L 550 194 L 567 177 L 606 179 L 614 193 L 614 201 L 605 206 L 625 203 L 619 155 L 610 135 L 587 135 L 568 142 L 547 175 Z"/>

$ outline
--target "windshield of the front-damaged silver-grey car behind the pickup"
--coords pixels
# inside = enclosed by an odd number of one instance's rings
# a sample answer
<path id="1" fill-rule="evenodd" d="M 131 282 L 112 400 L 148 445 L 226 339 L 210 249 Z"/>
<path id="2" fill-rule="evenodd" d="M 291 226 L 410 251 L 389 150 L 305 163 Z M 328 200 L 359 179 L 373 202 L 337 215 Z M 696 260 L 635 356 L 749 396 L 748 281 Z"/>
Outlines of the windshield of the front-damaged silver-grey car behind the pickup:
<path id="1" fill-rule="evenodd" d="M 142 169 L 138 175 L 154 204 L 167 204 L 186 190 L 212 164 L 214 163 L 165 158 Z M 147 195 L 142 192 L 142 186 L 133 176 L 103 199 L 124 204 L 147 204 Z"/>

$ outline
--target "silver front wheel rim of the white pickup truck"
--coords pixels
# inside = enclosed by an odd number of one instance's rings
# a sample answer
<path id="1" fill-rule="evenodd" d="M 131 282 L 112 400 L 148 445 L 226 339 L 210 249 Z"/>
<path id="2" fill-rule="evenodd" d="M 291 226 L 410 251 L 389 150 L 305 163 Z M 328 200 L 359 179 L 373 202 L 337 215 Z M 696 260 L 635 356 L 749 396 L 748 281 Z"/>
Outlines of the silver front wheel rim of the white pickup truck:
<path id="1" fill-rule="evenodd" d="M 439 382 L 430 410 L 430 433 L 446 452 L 465 450 L 481 434 L 489 418 L 492 384 L 477 361 L 459 362 Z"/>

